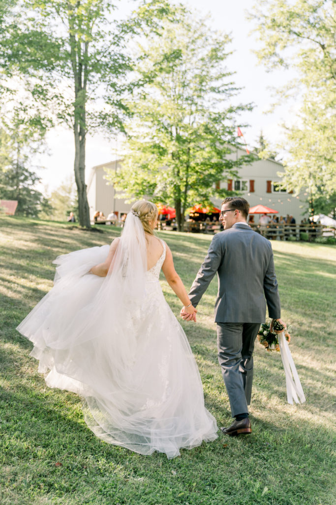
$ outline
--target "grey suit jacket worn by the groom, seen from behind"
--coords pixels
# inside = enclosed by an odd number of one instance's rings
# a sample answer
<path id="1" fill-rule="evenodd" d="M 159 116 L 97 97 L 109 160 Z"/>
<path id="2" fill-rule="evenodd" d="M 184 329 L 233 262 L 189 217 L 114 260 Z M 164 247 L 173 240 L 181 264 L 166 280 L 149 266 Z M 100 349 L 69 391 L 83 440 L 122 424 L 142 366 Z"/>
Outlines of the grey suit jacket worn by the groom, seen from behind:
<path id="1" fill-rule="evenodd" d="M 280 318 L 280 297 L 272 245 L 247 224 L 237 223 L 214 236 L 189 291 L 195 307 L 218 274 L 216 323 L 263 323 Z"/>

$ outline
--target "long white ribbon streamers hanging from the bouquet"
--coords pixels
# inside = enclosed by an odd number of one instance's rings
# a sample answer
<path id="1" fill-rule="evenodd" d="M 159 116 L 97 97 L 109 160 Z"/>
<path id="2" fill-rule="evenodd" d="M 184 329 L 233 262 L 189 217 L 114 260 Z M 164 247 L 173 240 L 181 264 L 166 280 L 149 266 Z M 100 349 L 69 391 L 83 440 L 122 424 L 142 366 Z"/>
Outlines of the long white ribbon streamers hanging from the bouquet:
<path id="1" fill-rule="evenodd" d="M 306 398 L 284 332 L 278 334 L 278 341 L 285 369 L 288 403 L 293 405 L 293 399 L 296 403 L 303 403 Z"/>

